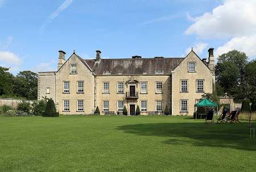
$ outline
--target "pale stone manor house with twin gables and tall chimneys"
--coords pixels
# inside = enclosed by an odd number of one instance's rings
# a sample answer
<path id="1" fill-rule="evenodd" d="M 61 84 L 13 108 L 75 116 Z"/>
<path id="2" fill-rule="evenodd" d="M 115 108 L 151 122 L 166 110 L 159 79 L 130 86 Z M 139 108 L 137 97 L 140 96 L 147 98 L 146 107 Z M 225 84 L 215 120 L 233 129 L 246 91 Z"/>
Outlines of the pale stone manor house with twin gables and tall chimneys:
<path id="1" fill-rule="evenodd" d="M 191 50 L 185 58 L 82 59 L 74 53 L 66 60 L 59 51 L 57 71 L 39 72 L 38 100 L 52 98 L 60 114 L 193 115 L 194 105 L 215 87 L 213 48 L 208 61 Z"/>

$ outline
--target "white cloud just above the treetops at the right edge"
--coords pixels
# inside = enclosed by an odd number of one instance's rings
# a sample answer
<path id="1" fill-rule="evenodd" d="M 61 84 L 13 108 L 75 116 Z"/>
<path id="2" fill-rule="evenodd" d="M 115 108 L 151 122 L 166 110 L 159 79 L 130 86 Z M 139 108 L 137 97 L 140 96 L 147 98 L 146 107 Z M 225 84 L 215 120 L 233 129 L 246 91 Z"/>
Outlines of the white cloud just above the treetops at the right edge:
<path id="1" fill-rule="evenodd" d="M 228 53 L 230 50 L 244 51 L 249 57 L 256 57 L 256 34 L 252 36 L 234 37 L 216 50 L 216 55 Z"/>

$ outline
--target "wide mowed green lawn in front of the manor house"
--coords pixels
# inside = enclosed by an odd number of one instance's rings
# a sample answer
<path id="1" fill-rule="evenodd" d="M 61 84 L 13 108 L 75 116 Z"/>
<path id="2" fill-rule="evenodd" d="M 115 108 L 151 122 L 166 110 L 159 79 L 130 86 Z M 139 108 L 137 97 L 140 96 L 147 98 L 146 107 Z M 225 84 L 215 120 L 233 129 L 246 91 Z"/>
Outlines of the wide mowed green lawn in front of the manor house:
<path id="1" fill-rule="evenodd" d="M 0 171 L 256 171 L 246 126 L 166 116 L 0 117 Z"/>

